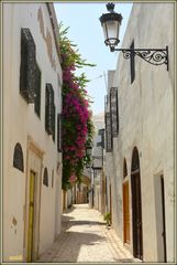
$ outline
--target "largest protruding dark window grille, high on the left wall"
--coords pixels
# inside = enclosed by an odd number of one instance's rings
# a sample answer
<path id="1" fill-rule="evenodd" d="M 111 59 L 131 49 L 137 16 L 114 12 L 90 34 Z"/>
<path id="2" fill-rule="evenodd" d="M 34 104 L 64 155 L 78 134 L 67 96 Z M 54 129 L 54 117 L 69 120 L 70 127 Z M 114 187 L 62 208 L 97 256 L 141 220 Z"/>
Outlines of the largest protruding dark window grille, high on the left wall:
<path id="1" fill-rule="evenodd" d="M 35 43 L 30 29 L 21 30 L 20 93 L 27 103 L 35 98 Z"/>

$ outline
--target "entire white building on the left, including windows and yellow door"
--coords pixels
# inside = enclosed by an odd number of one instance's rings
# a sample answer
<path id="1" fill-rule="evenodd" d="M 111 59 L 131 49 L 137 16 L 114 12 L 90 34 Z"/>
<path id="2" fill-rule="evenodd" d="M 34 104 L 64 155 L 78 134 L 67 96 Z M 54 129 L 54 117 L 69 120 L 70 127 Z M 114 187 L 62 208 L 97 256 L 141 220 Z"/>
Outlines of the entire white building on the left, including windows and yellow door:
<path id="1" fill-rule="evenodd" d="M 60 232 L 62 67 L 52 3 L 3 3 L 3 262 Z"/>

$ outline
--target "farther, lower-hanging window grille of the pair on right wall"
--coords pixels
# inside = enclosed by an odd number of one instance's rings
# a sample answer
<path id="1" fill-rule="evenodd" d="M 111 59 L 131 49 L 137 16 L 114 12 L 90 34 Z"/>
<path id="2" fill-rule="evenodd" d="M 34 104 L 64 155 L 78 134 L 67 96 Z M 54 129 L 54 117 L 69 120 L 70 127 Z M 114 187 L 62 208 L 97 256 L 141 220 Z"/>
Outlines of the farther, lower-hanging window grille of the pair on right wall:
<path id="1" fill-rule="evenodd" d="M 106 113 L 106 151 L 112 151 L 112 129 L 110 113 Z"/>

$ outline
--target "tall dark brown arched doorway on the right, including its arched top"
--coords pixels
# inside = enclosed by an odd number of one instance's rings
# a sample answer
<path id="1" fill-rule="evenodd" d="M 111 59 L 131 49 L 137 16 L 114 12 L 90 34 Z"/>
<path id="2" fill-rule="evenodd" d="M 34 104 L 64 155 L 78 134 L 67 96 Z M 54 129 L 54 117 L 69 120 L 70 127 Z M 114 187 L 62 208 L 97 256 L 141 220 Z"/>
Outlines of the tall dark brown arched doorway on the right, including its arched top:
<path id="1" fill-rule="evenodd" d="M 142 195 L 139 150 L 133 149 L 131 167 L 133 255 L 143 259 Z"/>

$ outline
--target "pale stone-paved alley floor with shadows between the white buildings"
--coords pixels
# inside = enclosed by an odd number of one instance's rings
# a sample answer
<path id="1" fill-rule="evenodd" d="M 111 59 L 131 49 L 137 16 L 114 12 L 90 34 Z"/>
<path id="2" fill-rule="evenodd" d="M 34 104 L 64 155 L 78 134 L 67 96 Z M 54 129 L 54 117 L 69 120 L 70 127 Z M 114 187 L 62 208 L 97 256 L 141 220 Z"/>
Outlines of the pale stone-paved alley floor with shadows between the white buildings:
<path id="1" fill-rule="evenodd" d="M 37 262 L 132 263 L 115 232 L 106 227 L 102 215 L 88 204 L 75 204 L 63 214 L 62 233 Z"/>

